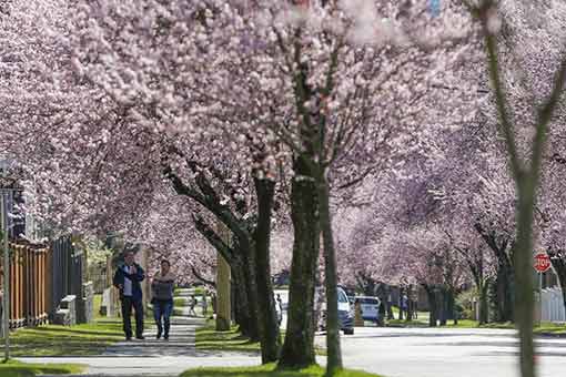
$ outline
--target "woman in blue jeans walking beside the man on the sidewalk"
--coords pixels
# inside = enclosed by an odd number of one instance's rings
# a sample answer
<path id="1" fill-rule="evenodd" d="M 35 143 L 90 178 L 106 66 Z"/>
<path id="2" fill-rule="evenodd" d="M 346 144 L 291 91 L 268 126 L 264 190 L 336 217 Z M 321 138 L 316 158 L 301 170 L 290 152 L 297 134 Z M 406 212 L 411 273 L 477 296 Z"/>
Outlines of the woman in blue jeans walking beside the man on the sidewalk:
<path id="1" fill-rule="evenodd" d="M 160 339 L 169 339 L 169 329 L 171 328 L 171 314 L 173 313 L 173 288 L 175 285 L 175 275 L 170 271 L 171 264 L 169 261 L 161 261 L 161 271 L 153 277 L 151 283 L 151 291 L 153 298 L 153 317 L 158 326 L 158 336 Z"/>

